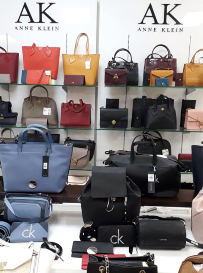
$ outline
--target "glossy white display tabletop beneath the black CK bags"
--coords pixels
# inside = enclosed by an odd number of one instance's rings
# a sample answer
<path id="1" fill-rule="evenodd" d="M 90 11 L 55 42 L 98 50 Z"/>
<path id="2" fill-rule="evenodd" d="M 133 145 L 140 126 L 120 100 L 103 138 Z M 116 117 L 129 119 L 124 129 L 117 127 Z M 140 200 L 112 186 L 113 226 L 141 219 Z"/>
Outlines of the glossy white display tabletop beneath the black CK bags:
<path id="1" fill-rule="evenodd" d="M 190 229 L 190 215 L 156 215 L 161 217 L 175 216 L 185 219 L 187 237 L 194 240 Z M 78 206 L 77 204 L 54 205 L 53 215 L 49 220 L 49 240 L 57 242 L 63 247 L 62 258 L 64 262 L 61 260 L 54 261 L 51 273 L 85 272 L 81 269 L 82 259 L 71 257 L 72 243 L 73 241 L 79 241 L 79 231 L 83 224 L 80 204 Z M 158 266 L 159 273 L 177 273 L 184 259 L 188 256 L 197 255 L 200 251 L 201 249 L 186 243 L 186 247 L 182 250 L 138 249 L 138 255 L 145 255 L 147 252 L 154 253 L 155 264 Z M 114 254 L 130 256 L 127 247 L 115 247 Z"/>

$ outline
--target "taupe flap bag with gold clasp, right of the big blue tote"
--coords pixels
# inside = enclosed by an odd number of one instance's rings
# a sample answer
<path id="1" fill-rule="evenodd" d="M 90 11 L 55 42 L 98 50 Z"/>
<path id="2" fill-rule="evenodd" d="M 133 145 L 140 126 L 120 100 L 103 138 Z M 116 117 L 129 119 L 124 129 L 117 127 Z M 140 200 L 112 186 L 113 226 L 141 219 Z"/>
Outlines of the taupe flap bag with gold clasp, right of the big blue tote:
<path id="1" fill-rule="evenodd" d="M 71 169 L 83 169 L 89 163 L 90 149 L 89 146 L 86 148 L 72 148 L 72 157 L 70 168 Z"/>

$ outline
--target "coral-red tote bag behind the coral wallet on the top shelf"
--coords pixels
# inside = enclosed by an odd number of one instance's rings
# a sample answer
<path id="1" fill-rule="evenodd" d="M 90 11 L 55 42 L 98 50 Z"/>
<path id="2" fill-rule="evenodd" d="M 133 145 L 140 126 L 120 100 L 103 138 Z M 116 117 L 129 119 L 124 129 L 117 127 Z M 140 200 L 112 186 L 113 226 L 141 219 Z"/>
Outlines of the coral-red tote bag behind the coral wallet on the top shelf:
<path id="1" fill-rule="evenodd" d="M 52 72 L 51 78 L 56 80 L 59 70 L 60 47 L 22 47 L 24 70 L 46 69 Z"/>

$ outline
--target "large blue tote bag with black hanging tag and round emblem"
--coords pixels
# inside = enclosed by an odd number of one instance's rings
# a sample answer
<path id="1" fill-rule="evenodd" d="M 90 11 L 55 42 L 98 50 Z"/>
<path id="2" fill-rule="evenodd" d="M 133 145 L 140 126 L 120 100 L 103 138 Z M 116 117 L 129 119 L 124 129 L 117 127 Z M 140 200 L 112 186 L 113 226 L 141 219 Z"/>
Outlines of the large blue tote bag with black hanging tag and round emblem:
<path id="1" fill-rule="evenodd" d="M 35 130 L 45 143 L 24 142 L 24 134 Z M 25 128 L 17 144 L 0 145 L 0 160 L 7 192 L 59 193 L 66 186 L 72 156 L 72 145 L 51 143 L 52 140 L 36 128 Z"/>

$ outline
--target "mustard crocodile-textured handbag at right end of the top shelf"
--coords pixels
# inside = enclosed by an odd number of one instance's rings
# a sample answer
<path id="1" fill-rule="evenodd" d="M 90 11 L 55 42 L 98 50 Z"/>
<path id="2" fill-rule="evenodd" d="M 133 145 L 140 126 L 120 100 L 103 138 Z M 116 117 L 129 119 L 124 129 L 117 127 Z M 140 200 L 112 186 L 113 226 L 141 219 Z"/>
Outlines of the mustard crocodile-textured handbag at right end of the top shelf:
<path id="1" fill-rule="evenodd" d="M 203 86 L 203 63 L 195 63 L 195 55 L 199 51 L 203 48 L 195 52 L 190 63 L 184 64 L 183 86 Z"/>

